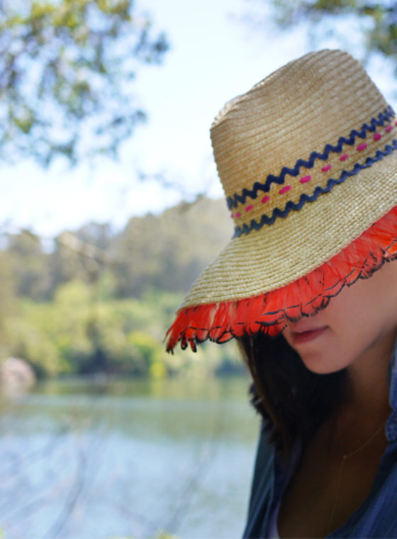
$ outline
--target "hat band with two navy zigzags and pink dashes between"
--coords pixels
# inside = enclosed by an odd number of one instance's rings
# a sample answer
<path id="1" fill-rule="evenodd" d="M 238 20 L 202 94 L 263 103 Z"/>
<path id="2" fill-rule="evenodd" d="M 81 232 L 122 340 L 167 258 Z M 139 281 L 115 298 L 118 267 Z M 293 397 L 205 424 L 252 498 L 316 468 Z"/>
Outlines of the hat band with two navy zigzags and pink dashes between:
<path id="1" fill-rule="evenodd" d="M 360 170 L 397 149 L 397 121 L 391 106 L 353 129 L 337 145 L 326 144 L 322 153 L 312 152 L 307 161 L 298 159 L 293 168 L 283 167 L 279 176 L 269 174 L 227 199 L 235 221 L 234 237 L 272 225 L 276 218 L 298 211 L 306 202 L 328 193 Z"/>

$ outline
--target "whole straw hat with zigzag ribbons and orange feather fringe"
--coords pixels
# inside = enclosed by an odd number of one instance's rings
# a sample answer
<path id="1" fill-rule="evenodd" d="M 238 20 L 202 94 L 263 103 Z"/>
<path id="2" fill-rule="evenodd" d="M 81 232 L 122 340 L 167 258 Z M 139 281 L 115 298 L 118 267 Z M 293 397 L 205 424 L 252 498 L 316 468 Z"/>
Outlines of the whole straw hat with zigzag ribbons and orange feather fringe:
<path id="1" fill-rule="evenodd" d="M 346 52 L 281 67 L 225 105 L 211 139 L 235 233 L 186 295 L 167 350 L 276 335 L 397 257 L 397 121 Z"/>

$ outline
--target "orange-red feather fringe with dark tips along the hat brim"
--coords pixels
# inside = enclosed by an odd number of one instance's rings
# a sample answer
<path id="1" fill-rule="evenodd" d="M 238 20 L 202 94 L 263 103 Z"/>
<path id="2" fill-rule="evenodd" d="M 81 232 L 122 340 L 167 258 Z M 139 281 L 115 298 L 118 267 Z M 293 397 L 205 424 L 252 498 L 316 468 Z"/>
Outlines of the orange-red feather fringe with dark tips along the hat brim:
<path id="1" fill-rule="evenodd" d="M 262 331 L 275 336 L 285 319 L 297 321 L 325 309 L 332 296 L 357 279 L 366 279 L 384 264 L 397 258 L 397 206 L 365 230 L 337 255 L 304 277 L 247 299 L 204 304 L 181 309 L 167 331 L 167 351 L 180 341 L 189 344 L 212 340 L 225 343 L 233 337 Z"/>

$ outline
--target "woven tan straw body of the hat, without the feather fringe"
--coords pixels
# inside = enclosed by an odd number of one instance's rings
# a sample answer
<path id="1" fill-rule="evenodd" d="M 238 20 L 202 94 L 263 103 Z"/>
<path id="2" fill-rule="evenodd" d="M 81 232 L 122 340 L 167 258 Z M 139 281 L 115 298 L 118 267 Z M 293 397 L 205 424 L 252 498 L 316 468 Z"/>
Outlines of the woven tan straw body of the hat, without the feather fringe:
<path id="1" fill-rule="evenodd" d="M 290 62 L 227 104 L 211 138 L 236 236 L 180 309 L 283 287 L 384 216 L 397 204 L 396 130 L 379 90 L 341 51 Z M 340 143 L 341 137 L 350 142 Z M 334 150 L 325 152 L 327 145 Z M 313 152 L 323 157 L 311 159 Z M 307 166 L 283 174 L 299 160 Z M 278 179 L 269 182 L 269 175 Z M 298 207 L 286 212 L 289 204 Z M 275 209 L 282 216 L 262 223 Z"/>

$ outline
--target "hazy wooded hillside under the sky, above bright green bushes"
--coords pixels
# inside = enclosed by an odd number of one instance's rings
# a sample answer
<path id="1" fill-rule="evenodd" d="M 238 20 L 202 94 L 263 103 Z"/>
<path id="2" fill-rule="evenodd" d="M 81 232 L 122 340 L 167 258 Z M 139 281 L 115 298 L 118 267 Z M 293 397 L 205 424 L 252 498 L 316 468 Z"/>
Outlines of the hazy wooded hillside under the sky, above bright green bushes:
<path id="1" fill-rule="evenodd" d="M 201 196 L 160 216 L 133 217 L 118 234 L 107 223 L 65 231 L 50 253 L 33 235 L 9 235 L 0 273 L 13 276 L 17 296 L 37 300 L 74 279 L 106 279 L 108 294 L 118 298 L 139 298 L 147 289 L 183 293 L 232 233 L 225 201 Z"/>

